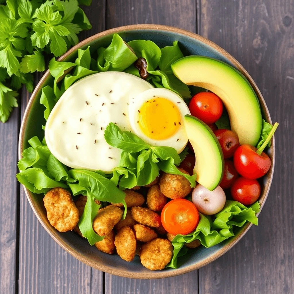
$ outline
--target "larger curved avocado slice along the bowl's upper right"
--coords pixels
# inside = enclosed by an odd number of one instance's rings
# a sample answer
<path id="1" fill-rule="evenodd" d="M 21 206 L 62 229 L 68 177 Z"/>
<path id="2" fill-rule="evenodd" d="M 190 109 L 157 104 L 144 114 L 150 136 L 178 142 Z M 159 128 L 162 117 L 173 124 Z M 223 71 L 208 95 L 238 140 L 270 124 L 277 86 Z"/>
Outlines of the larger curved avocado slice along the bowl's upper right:
<path id="1" fill-rule="evenodd" d="M 241 145 L 257 144 L 262 127 L 260 105 L 245 76 L 222 61 L 198 55 L 183 57 L 171 68 L 185 84 L 206 88 L 220 97 Z"/>

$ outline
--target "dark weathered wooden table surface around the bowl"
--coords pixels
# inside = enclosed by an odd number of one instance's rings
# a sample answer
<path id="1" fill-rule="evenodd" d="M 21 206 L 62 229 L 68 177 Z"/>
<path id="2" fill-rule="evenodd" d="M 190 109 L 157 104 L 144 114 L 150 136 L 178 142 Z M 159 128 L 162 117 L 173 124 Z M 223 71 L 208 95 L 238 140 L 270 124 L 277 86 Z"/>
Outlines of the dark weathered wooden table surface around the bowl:
<path id="1" fill-rule="evenodd" d="M 0 293 L 294 293 L 294 0 L 93 0 L 85 12 L 93 29 L 80 39 L 127 24 L 166 24 L 205 36 L 240 61 L 280 123 L 272 187 L 258 227 L 204 268 L 161 280 L 100 272 L 54 242 L 16 182 L 30 97 L 23 89 L 19 108 L 0 124 Z"/>

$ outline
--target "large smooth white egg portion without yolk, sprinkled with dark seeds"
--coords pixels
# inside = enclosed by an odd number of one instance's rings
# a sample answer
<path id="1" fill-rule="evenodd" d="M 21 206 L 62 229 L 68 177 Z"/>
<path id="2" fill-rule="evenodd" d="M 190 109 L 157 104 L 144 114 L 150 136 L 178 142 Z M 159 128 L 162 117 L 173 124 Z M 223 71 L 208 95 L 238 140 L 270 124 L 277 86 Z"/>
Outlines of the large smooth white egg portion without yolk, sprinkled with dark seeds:
<path id="1" fill-rule="evenodd" d="M 45 140 L 51 153 L 66 166 L 111 173 L 119 165 L 121 149 L 104 139 L 110 122 L 132 131 L 128 105 L 153 86 L 123 72 L 101 72 L 70 86 L 52 109 Z M 133 118 L 133 116 L 131 117 Z"/>

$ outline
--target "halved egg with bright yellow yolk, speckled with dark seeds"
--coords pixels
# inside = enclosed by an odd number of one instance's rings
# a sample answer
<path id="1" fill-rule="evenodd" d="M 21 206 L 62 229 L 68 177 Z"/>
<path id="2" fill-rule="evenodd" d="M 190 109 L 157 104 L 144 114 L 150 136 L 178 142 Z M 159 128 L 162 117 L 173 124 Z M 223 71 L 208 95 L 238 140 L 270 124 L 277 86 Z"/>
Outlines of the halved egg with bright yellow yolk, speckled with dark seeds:
<path id="1" fill-rule="evenodd" d="M 170 146 L 180 153 L 188 142 L 184 116 L 190 114 L 183 99 L 165 88 L 148 89 L 129 103 L 133 132 L 153 146 Z"/>

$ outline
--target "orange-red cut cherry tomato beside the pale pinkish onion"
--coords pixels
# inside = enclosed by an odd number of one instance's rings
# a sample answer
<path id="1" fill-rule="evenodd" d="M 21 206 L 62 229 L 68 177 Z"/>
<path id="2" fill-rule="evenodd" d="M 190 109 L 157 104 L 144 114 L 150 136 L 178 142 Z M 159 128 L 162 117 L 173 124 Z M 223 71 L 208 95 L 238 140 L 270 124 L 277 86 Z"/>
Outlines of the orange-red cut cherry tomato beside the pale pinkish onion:
<path id="1" fill-rule="evenodd" d="M 161 223 L 168 233 L 186 235 L 196 229 L 199 213 L 196 206 L 187 199 L 173 199 L 161 211 Z"/>

